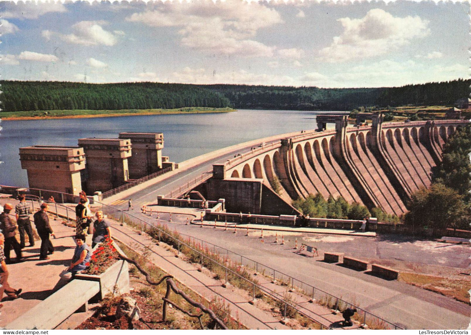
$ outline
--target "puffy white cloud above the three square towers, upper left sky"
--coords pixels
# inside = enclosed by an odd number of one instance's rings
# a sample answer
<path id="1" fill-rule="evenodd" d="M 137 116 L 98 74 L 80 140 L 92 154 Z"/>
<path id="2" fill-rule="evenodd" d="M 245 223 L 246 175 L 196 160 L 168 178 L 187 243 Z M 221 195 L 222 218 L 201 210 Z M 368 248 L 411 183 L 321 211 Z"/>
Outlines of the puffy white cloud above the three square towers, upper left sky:
<path id="1" fill-rule="evenodd" d="M 51 36 L 57 36 L 67 43 L 81 44 L 84 46 L 99 44 L 113 46 L 118 41 L 116 36 L 121 36 L 124 33 L 122 31 L 114 31 L 114 33 L 110 33 L 102 28 L 102 25 L 106 24 L 106 21 L 81 21 L 72 25 L 73 33 L 71 34 L 62 34 L 44 30 L 41 35 L 47 40 L 49 40 Z"/>

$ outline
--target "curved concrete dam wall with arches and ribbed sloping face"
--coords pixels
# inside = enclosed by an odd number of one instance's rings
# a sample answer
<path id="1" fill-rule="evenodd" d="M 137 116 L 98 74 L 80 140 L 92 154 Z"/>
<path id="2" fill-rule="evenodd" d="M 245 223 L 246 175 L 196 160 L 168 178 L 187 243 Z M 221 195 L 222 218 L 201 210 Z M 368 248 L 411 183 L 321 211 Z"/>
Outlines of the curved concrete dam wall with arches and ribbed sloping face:
<path id="1" fill-rule="evenodd" d="M 370 126 L 347 127 L 345 115 L 318 115 L 317 130 L 253 147 L 249 153 L 215 165 L 213 178 L 235 183 L 256 179 L 271 191 L 277 184 L 279 197 L 288 204 L 320 193 L 326 199 L 343 196 L 348 202 L 400 215 L 407 211 L 411 193 L 430 185 L 431 168 L 440 162 L 448 137 L 469 122 L 383 123 L 381 114 L 372 117 Z M 325 131 L 326 123 L 335 123 L 335 130 Z M 212 193 L 217 196 L 218 192 Z M 226 189 L 230 204 L 228 194 Z M 245 195 L 238 193 L 232 201 L 236 203 L 241 196 Z M 258 212 L 257 206 L 269 204 L 254 204 L 252 213 Z"/>

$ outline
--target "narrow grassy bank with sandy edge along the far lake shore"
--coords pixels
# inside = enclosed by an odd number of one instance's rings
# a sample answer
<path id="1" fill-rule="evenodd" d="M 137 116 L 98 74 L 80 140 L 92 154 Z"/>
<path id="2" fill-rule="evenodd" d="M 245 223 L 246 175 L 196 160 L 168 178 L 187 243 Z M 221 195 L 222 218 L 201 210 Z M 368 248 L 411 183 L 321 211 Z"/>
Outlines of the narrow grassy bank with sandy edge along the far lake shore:
<path id="1" fill-rule="evenodd" d="M 175 109 L 118 109 L 118 110 L 50 110 L 27 112 L 1 112 L 3 120 L 38 120 L 38 119 L 73 119 L 85 117 L 111 117 L 130 115 L 163 115 L 163 114 L 199 114 L 199 113 L 227 113 L 235 109 L 213 107 L 182 107 Z"/>

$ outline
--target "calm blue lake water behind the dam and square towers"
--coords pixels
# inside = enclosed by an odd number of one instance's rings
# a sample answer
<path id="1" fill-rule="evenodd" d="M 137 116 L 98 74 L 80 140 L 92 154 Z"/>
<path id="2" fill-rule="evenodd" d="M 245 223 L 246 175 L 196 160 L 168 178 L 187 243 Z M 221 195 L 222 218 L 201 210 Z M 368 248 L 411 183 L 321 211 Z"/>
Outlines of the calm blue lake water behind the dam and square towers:
<path id="1" fill-rule="evenodd" d="M 252 139 L 317 128 L 312 111 L 238 110 L 217 114 L 120 116 L 90 119 L 2 121 L 0 184 L 26 187 L 20 147 L 77 146 L 86 137 L 117 138 L 118 133 L 162 132 L 163 155 L 182 162 Z M 53 179 L 51 178 L 51 181 Z"/>

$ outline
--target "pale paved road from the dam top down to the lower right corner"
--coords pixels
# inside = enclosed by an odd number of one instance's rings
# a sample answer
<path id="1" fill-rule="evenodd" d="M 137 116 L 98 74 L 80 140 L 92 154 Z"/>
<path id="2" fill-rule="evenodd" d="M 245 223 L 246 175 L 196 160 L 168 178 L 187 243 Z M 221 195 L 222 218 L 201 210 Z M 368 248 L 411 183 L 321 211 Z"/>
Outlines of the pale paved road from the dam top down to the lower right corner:
<path id="1" fill-rule="evenodd" d="M 158 195 L 170 193 L 203 172 L 212 171 L 212 164 L 224 163 L 251 147 L 253 144 L 197 164 L 143 190 L 125 191 L 120 194 L 121 198 L 132 198 L 135 206 L 132 213 L 150 220 L 139 213 L 141 204 L 155 203 Z M 116 207 L 127 209 L 127 202 L 123 201 Z M 161 219 L 165 220 L 165 217 L 161 216 Z M 286 238 L 290 239 L 287 245 L 276 245 L 260 243 L 257 237 L 245 237 L 245 232 L 232 234 L 223 229 L 186 226 L 176 222 L 170 224 L 172 229 L 181 233 L 224 246 L 408 329 L 465 329 L 470 322 L 471 307 L 463 302 L 402 282 L 386 281 L 363 272 L 302 257 L 293 253 L 293 237 Z"/>

